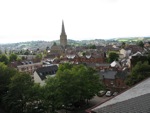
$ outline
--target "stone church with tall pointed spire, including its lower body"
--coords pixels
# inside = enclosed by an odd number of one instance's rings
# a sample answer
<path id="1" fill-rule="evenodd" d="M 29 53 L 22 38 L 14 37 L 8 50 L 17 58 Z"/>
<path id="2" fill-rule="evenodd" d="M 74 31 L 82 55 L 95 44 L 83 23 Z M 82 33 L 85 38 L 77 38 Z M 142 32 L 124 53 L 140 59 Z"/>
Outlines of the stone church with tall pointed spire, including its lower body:
<path id="1" fill-rule="evenodd" d="M 55 56 L 60 56 L 65 53 L 67 47 L 67 35 L 65 32 L 64 22 L 62 21 L 62 29 L 60 34 L 60 45 L 54 43 L 50 49 L 50 54 Z"/>

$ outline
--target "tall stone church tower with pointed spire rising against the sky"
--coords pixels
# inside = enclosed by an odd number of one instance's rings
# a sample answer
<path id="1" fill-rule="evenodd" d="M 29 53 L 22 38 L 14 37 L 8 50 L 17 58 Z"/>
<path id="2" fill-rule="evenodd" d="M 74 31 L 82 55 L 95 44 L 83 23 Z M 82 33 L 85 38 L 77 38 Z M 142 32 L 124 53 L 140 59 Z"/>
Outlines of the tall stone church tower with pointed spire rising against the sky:
<path id="1" fill-rule="evenodd" d="M 62 29 L 60 34 L 60 45 L 64 48 L 67 46 L 67 35 L 65 32 L 64 22 L 62 21 Z"/>

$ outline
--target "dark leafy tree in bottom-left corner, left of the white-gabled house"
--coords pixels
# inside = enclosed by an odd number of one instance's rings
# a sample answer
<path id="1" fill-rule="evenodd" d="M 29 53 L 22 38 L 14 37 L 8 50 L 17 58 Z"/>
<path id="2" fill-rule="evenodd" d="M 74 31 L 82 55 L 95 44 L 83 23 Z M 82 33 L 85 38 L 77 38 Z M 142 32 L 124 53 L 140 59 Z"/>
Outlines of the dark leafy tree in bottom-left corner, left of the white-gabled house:
<path id="1" fill-rule="evenodd" d="M 29 96 L 33 81 L 30 75 L 25 73 L 16 73 L 9 84 L 9 90 L 3 97 L 3 103 L 6 109 L 11 113 L 27 113 L 27 105 L 30 103 Z"/>

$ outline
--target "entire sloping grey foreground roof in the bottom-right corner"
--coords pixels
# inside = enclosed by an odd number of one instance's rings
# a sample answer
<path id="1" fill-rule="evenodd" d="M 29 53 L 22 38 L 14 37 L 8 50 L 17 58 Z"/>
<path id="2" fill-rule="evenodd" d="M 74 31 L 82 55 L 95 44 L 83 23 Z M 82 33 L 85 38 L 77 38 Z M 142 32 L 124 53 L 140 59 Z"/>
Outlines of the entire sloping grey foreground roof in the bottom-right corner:
<path id="1" fill-rule="evenodd" d="M 96 113 L 150 113 L 150 78 L 93 108 L 92 111 Z"/>

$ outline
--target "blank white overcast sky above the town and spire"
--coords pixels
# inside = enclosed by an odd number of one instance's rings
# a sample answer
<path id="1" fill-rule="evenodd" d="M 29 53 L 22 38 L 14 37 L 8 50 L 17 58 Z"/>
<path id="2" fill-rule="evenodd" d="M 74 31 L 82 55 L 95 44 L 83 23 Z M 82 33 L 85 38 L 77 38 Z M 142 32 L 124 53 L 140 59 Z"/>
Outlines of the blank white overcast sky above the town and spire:
<path id="1" fill-rule="evenodd" d="M 0 0 L 0 43 L 150 36 L 150 0 Z"/>

